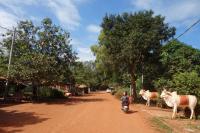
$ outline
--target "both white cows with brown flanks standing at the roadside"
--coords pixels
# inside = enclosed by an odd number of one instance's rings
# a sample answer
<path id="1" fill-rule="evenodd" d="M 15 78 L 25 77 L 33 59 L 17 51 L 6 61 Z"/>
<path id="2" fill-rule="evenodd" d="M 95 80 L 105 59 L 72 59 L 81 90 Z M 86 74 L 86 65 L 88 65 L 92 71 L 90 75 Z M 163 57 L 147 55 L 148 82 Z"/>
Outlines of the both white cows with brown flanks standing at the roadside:
<path id="1" fill-rule="evenodd" d="M 157 100 L 161 97 L 167 106 L 173 107 L 172 118 L 175 118 L 178 107 L 189 107 L 191 110 L 190 119 L 194 116 L 194 109 L 197 105 L 197 98 L 193 95 L 178 95 L 177 92 L 170 92 L 164 89 L 159 95 L 158 92 L 150 92 L 149 90 L 140 90 L 139 94 L 147 101 L 146 105 L 150 106 L 151 100 Z"/>

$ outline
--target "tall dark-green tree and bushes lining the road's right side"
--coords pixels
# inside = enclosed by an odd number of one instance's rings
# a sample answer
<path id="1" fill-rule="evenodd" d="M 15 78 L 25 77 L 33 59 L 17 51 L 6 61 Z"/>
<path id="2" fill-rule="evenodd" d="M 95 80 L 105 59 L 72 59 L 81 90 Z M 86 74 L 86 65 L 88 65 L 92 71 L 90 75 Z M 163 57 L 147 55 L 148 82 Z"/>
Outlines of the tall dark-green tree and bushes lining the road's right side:
<path id="1" fill-rule="evenodd" d="M 131 86 L 134 99 L 141 88 L 166 88 L 200 101 L 200 50 L 173 39 L 176 29 L 163 16 L 151 10 L 109 14 L 101 27 L 91 50 L 101 83 L 114 87 L 117 97 Z"/>

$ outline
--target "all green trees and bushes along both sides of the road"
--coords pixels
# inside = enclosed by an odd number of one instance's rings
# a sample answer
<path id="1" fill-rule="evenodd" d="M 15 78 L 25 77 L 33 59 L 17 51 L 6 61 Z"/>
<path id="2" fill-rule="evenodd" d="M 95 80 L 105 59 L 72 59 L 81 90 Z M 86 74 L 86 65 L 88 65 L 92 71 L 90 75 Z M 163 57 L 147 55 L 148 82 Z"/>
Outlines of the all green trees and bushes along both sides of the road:
<path id="1" fill-rule="evenodd" d="M 19 22 L 8 89 L 1 82 L 1 96 L 29 88 L 24 94 L 33 98 L 62 97 L 53 85 L 70 84 L 76 93 L 76 84 L 84 84 L 91 90 L 112 87 L 117 97 L 131 88 L 134 100 L 141 88 L 158 92 L 167 88 L 196 95 L 200 101 L 200 50 L 174 40 L 176 28 L 164 16 L 152 10 L 107 14 L 101 27 L 98 43 L 91 47 L 96 60 L 79 62 L 70 33 L 51 19 L 39 25 Z M 1 44 L 7 51 L 0 51 L 0 77 L 5 78 L 11 34 L 7 32 Z"/>

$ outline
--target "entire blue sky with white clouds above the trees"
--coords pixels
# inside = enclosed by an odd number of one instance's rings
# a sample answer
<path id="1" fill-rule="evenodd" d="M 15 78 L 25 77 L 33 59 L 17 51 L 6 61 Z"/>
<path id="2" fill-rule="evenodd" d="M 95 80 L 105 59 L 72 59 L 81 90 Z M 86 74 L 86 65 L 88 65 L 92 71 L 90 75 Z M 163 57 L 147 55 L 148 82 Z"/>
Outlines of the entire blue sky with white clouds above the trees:
<path id="1" fill-rule="evenodd" d="M 20 20 L 35 24 L 49 17 L 71 33 L 71 44 L 79 60 L 94 60 L 90 46 L 97 43 L 100 24 L 106 13 L 118 14 L 152 9 L 177 28 L 178 36 L 200 19 L 200 0 L 1 0 L 0 25 L 12 28 Z M 0 34 L 5 30 L 0 29 Z M 200 49 L 200 24 L 180 38 Z"/>

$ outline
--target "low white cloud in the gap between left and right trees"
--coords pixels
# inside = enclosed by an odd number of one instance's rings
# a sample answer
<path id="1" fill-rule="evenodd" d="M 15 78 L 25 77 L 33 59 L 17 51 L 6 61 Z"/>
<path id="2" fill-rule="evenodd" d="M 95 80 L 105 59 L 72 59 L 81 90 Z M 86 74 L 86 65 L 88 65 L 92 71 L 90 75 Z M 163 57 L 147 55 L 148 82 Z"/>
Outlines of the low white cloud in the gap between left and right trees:
<path id="1" fill-rule="evenodd" d="M 95 56 L 92 54 L 92 51 L 88 47 L 78 47 L 78 57 L 79 61 L 90 61 L 95 60 Z"/>

